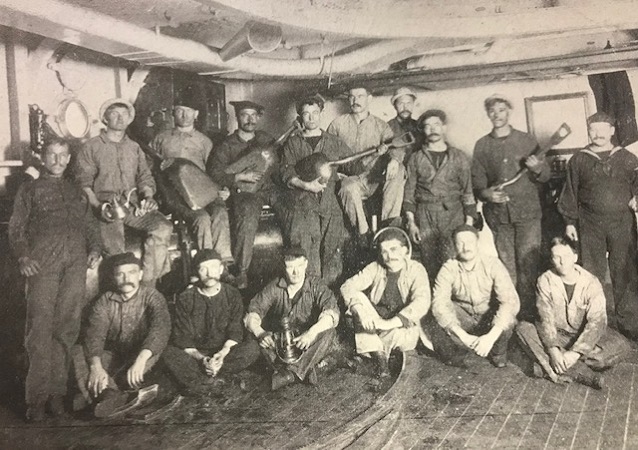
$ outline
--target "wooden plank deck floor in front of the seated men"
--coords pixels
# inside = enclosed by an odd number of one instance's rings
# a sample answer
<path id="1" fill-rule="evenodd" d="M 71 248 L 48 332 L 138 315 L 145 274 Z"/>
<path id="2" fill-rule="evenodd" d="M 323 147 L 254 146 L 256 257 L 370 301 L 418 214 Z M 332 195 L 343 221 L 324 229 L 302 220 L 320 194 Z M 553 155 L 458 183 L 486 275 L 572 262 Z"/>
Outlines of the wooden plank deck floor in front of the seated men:
<path id="1" fill-rule="evenodd" d="M 335 369 L 340 386 L 255 385 L 231 402 L 184 402 L 162 423 L 72 421 L 32 426 L 6 411 L 1 448 L 638 448 L 638 358 L 607 388 L 553 384 L 515 365 L 469 369 L 410 352 L 381 396 L 369 374 Z M 336 378 L 333 378 L 336 377 Z"/>

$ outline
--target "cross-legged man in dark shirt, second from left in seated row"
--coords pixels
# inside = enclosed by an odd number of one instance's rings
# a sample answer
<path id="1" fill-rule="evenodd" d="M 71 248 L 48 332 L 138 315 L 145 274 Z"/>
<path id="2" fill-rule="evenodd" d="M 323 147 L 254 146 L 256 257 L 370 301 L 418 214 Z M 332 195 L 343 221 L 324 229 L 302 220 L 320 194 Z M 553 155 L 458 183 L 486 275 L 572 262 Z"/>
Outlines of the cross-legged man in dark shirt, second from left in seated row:
<path id="1" fill-rule="evenodd" d="M 220 282 L 222 257 L 200 250 L 193 260 L 199 281 L 179 296 L 171 343 L 162 361 L 186 394 L 206 392 L 207 382 L 234 374 L 259 357 L 244 340 L 244 304 L 234 287 Z"/>

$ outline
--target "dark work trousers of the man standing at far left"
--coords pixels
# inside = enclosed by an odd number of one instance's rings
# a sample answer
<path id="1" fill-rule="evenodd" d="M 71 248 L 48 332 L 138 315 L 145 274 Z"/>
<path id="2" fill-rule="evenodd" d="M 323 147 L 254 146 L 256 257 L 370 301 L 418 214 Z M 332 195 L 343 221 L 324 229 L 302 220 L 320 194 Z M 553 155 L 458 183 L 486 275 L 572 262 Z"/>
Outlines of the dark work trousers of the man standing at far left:
<path id="1" fill-rule="evenodd" d="M 80 248 L 62 248 L 61 253 L 41 261 L 38 275 L 27 279 L 27 405 L 67 391 L 71 349 L 85 304 L 87 255 Z"/>

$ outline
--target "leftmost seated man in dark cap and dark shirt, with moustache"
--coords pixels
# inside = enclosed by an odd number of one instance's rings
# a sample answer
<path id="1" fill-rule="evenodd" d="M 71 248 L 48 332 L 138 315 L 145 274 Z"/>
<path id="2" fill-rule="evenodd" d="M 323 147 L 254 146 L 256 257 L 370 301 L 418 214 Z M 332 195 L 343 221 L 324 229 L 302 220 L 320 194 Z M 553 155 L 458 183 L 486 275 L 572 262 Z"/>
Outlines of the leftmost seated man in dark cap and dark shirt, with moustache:
<path id="1" fill-rule="evenodd" d="M 97 401 L 96 417 L 108 416 L 124 403 L 121 388 L 142 386 L 171 332 L 164 296 L 140 285 L 141 261 L 133 253 L 121 253 L 107 264 L 113 268 L 115 291 L 95 301 L 83 344 L 73 354 L 80 392 L 87 402 Z"/>

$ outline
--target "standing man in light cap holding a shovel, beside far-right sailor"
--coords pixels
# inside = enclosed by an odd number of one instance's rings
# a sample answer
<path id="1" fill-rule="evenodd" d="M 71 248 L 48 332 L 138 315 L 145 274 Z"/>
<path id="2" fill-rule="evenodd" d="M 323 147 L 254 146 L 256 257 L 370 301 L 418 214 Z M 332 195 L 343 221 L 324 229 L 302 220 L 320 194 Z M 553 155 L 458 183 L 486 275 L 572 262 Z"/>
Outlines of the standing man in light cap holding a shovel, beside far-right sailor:
<path id="1" fill-rule="evenodd" d="M 534 156 L 533 136 L 509 124 L 511 102 L 494 94 L 485 100 L 492 132 L 474 146 L 472 185 L 483 202 L 485 220 L 494 235 L 499 258 L 507 267 L 521 298 L 521 315 L 534 314 L 534 285 L 538 276 L 541 243 L 539 189 L 549 180 L 549 166 Z M 516 183 L 498 189 L 523 167 L 529 172 Z"/>

